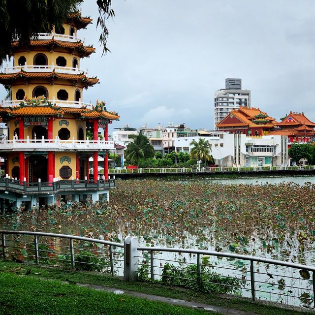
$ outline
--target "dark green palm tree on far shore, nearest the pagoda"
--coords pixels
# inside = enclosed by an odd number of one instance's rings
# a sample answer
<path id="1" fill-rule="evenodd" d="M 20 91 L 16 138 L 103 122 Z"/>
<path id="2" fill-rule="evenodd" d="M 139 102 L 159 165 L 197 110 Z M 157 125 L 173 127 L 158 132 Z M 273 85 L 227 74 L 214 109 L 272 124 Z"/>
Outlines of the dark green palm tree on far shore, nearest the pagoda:
<path id="1" fill-rule="evenodd" d="M 127 145 L 125 157 L 130 163 L 139 165 L 140 158 L 153 158 L 154 148 L 150 144 L 149 139 L 143 135 L 139 134 L 129 134 L 129 139 L 133 141 Z"/>

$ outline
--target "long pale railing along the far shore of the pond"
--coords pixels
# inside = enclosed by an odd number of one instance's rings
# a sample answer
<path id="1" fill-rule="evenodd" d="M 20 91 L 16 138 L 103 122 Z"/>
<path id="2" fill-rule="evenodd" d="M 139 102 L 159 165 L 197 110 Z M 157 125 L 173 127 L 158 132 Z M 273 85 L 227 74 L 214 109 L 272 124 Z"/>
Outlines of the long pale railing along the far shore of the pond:
<path id="1" fill-rule="evenodd" d="M 304 166 L 241 166 L 241 167 L 170 167 L 170 168 L 126 168 L 109 169 L 110 174 L 186 174 L 186 173 L 230 173 L 259 171 L 305 171 L 315 170 L 315 165 Z"/>

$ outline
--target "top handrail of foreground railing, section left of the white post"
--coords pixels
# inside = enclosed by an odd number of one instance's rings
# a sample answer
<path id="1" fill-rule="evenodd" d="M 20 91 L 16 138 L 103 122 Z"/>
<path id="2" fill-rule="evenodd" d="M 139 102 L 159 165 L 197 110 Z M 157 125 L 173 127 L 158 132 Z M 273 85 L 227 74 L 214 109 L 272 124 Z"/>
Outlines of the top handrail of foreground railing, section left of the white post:
<path id="1" fill-rule="evenodd" d="M 104 240 L 95 239 L 95 238 L 91 238 L 91 237 L 68 235 L 68 234 L 59 234 L 59 233 L 0 230 L 0 234 L 15 234 L 15 235 L 23 234 L 23 235 L 37 235 L 37 236 L 58 237 L 58 238 L 66 238 L 66 239 L 71 239 L 71 240 L 88 241 L 88 242 L 92 242 L 92 243 L 99 243 L 99 244 L 116 246 L 116 247 L 121 247 L 121 248 L 124 247 L 124 244 L 121 244 L 121 243 L 104 241 Z"/>

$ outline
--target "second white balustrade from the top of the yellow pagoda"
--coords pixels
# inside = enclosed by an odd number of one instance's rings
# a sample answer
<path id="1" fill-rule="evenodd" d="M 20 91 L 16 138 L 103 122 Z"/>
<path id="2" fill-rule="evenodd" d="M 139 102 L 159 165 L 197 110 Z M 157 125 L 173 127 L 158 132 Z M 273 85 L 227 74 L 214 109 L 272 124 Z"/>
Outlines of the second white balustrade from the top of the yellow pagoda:
<path id="1" fill-rule="evenodd" d="M 83 69 L 76 67 L 65 67 L 61 65 L 56 65 L 52 63 L 51 65 L 28 65 L 25 63 L 24 65 L 16 65 L 16 66 L 5 66 L 4 72 L 5 74 L 17 73 L 20 71 L 24 72 L 57 72 L 57 73 L 65 73 L 65 74 L 84 74 L 88 75 L 88 69 L 85 71 Z"/>

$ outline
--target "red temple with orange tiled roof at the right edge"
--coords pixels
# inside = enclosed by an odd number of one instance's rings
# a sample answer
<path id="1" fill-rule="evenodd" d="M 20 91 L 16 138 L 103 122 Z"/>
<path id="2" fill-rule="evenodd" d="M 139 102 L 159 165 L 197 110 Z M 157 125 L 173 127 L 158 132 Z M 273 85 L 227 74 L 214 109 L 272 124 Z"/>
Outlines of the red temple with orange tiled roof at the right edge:
<path id="1" fill-rule="evenodd" d="M 305 143 L 314 141 L 315 123 L 310 121 L 304 113 L 290 112 L 281 118 L 276 126 L 280 129 L 271 132 L 271 135 L 285 135 L 288 137 L 288 148 L 294 142 Z"/>

